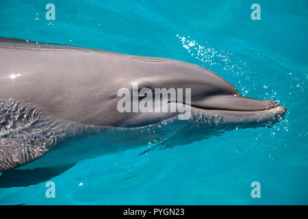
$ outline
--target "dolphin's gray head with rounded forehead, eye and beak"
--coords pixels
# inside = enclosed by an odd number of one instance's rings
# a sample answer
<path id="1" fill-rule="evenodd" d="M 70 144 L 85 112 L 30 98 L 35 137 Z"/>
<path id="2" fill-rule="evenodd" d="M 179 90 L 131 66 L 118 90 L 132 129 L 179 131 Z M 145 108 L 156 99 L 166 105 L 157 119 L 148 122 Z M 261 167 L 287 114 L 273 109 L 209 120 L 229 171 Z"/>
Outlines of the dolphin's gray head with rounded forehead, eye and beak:
<path id="1" fill-rule="evenodd" d="M 168 118 L 188 114 L 188 112 L 190 112 L 188 119 L 202 121 L 208 126 L 235 125 L 238 127 L 242 125 L 250 127 L 276 123 L 283 118 L 286 112 L 285 107 L 277 102 L 242 96 L 235 86 L 222 77 L 205 68 L 185 62 L 168 63 L 162 68 L 156 68 L 156 73 L 146 77 L 132 78 L 129 83 L 138 85 L 139 103 L 142 103 L 141 101 L 145 103 L 149 93 L 153 96 L 153 109 L 151 108 L 151 112 L 131 113 L 129 119 L 120 124 L 124 127 L 140 127 L 159 123 Z M 130 87 L 133 92 L 133 86 Z M 155 89 L 165 89 L 168 98 L 164 99 L 164 95 L 155 92 Z M 173 99 L 172 90 L 176 92 L 176 98 Z M 178 90 L 183 90 L 183 94 L 181 95 Z M 190 94 L 186 92 L 188 90 Z M 155 112 L 154 108 L 157 107 L 155 99 L 160 100 L 161 111 L 163 104 L 168 105 L 168 112 Z M 170 112 L 172 106 L 181 107 L 182 111 Z M 185 116 L 181 119 L 185 119 Z"/>

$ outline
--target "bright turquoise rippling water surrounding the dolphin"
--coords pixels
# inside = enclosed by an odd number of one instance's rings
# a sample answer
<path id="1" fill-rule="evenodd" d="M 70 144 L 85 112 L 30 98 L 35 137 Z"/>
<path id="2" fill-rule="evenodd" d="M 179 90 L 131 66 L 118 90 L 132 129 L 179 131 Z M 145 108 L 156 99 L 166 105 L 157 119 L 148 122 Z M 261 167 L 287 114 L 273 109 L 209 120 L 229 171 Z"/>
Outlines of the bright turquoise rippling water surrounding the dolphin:
<path id="1" fill-rule="evenodd" d="M 55 21 L 45 19 L 47 3 Z M 260 21 L 251 20 L 252 3 L 261 5 Z M 139 142 L 116 129 L 71 140 L 51 153 L 90 155 L 38 183 L 33 172 L 23 176 L 28 186 L 12 180 L 0 204 L 307 205 L 307 10 L 305 0 L 0 1 L 2 37 L 183 60 L 244 96 L 287 107 L 271 127 L 208 135 L 168 124 L 149 127 Z M 45 196 L 47 181 L 55 198 Z M 251 197 L 253 181 L 261 198 Z"/>

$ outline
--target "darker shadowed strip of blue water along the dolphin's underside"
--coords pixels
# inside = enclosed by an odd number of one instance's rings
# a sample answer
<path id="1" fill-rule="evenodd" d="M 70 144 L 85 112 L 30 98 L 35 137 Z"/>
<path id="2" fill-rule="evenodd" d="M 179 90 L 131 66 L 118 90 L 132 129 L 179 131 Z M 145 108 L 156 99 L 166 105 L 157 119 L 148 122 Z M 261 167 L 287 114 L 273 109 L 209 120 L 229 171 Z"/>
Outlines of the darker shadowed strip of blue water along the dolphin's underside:
<path id="1" fill-rule="evenodd" d="M 269 125 L 246 125 L 250 128 L 265 126 Z M 92 136 L 68 138 L 39 159 L 13 170 L 5 170 L 0 176 L 0 188 L 29 186 L 47 181 L 61 175 L 84 159 L 144 146 L 144 152 L 140 153 L 142 155 L 152 150 L 164 150 L 173 146 L 190 144 L 211 138 L 211 136 L 220 136 L 224 131 L 246 127 L 239 125 L 209 126 L 198 120 L 177 119 L 138 128 L 109 127 Z"/>

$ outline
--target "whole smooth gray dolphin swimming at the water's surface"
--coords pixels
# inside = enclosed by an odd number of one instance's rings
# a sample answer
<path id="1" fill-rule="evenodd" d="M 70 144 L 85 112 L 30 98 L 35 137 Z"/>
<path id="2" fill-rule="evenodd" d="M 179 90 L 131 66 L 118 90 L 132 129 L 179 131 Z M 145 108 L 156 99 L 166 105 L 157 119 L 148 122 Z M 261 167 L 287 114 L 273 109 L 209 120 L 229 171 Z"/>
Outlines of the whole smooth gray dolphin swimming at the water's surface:
<path id="1" fill-rule="evenodd" d="M 70 137 L 177 118 L 179 112 L 118 112 L 118 90 L 133 83 L 191 88 L 192 118 L 203 116 L 209 126 L 274 123 L 286 112 L 276 102 L 241 96 L 194 64 L 0 38 L 0 171 L 27 164 Z"/>

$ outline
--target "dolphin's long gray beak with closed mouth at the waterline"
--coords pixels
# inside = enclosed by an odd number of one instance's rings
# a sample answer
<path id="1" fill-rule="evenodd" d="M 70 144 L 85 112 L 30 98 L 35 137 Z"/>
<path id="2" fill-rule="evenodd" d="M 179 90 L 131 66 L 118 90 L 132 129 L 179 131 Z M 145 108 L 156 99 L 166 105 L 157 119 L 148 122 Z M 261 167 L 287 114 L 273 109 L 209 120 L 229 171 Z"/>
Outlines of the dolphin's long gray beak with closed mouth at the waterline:
<path id="1" fill-rule="evenodd" d="M 208 120 L 218 118 L 219 123 L 276 123 L 283 119 L 285 107 L 270 100 L 257 100 L 244 96 L 210 96 L 192 101 L 192 116 Z"/>

